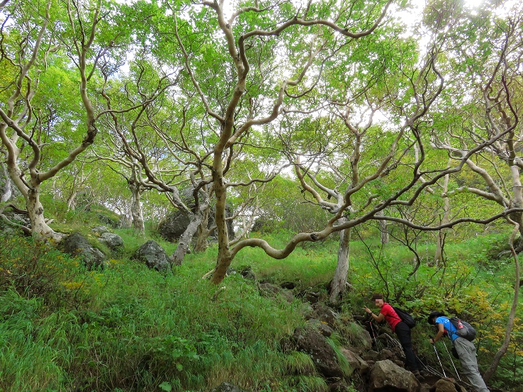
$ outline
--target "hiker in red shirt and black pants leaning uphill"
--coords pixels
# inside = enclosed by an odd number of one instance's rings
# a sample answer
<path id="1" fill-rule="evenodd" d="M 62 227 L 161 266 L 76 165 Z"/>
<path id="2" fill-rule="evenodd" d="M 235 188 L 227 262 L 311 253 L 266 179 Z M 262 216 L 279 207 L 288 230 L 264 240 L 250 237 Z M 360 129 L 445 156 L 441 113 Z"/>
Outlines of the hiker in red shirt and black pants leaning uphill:
<path id="1" fill-rule="evenodd" d="M 376 306 L 380 308 L 380 314 L 375 315 L 372 310 L 365 307 L 365 311 L 372 315 L 372 318 L 378 323 L 387 320 L 388 325 L 393 330 L 393 332 L 398 335 L 398 340 L 400 341 L 401 347 L 405 352 L 405 357 L 407 358 L 406 368 L 416 376 L 417 379 L 422 379 L 423 375 L 420 374 L 419 366 L 416 362 L 416 356 L 414 351 L 412 351 L 412 338 L 410 337 L 410 327 L 405 324 L 398 314 L 395 312 L 392 306 L 383 301 L 383 296 L 381 294 L 373 294 L 372 299 Z"/>

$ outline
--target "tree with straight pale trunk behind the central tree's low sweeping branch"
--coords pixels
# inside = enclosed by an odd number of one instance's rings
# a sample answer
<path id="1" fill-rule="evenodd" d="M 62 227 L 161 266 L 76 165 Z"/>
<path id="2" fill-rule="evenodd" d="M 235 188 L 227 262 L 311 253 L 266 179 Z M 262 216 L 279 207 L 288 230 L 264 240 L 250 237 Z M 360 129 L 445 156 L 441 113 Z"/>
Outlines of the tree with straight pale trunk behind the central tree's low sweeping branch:
<path id="1" fill-rule="evenodd" d="M 408 140 L 409 123 L 416 121 L 419 115 L 417 110 L 426 112 L 432 103 L 429 99 L 414 111 L 408 107 L 409 98 L 422 102 L 422 95 L 430 94 L 424 86 L 427 80 L 420 76 L 427 77 L 432 72 L 431 63 L 435 58 L 430 56 L 435 56 L 437 45 L 441 44 L 432 43 L 433 52 L 418 70 L 415 65 L 418 61 L 417 47 L 410 38 L 398 38 L 402 31 L 400 26 L 389 22 L 378 30 L 372 38 L 361 39 L 364 40 L 361 46 L 347 45 L 330 58 L 334 62 L 343 58 L 347 60 L 342 61 L 342 67 L 332 67 L 325 72 L 320 96 L 323 95 L 326 103 L 322 104 L 321 109 L 330 112 L 331 117 L 313 125 L 313 128 L 322 130 L 323 139 L 305 139 L 301 145 L 291 147 L 295 151 L 296 174 L 303 190 L 311 194 L 318 206 L 339 215 L 336 225 L 344 225 L 349 221 L 349 216 L 365 210 L 370 210 L 366 220 L 384 215 L 385 208 L 372 205 L 383 196 L 385 187 L 391 189 L 390 185 L 386 185 L 387 179 L 393 177 L 391 173 L 398 172 L 400 165 L 412 165 L 410 152 L 419 150 L 417 140 L 407 144 L 401 140 Z M 437 94 L 439 90 L 432 98 Z M 398 107 L 405 117 L 403 126 L 399 125 Z M 296 113 L 302 114 L 303 110 Z M 376 121 L 376 117 L 383 116 L 383 113 L 394 118 L 388 128 L 398 127 L 400 138 L 383 129 L 383 122 Z M 299 162 L 301 156 L 305 162 Z M 417 157 L 415 162 L 420 162 Z M 398 174 L 408 175 L 403 171 Z M 307 184 L 305 177 L 310 184 Z M 395 182 L 400 184 L 400 181 Z M 407 188 L 414 185 L 415 182 L 412 182 Z M 373 196 L 361 198 L 364 192 Z M 347 196 L 352 193 L 354 196 Z M 327 197 L 324 198 L 323 194 Z M 378 222 L 385 237 L 388 233 L 387 222 L 379 218 Z M 337 269 L 330 285 L 332 302 L 337 301 L 347 284 L 351 227 L 340 231 Z"/>

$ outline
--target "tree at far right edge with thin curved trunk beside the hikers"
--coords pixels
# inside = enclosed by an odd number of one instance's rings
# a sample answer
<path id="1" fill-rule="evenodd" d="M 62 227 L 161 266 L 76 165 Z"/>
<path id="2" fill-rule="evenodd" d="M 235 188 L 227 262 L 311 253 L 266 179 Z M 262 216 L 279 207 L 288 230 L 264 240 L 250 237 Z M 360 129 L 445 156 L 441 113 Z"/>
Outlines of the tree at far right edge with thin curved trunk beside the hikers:
<path id="1" fill-rule="evenodd" d="M 461 83 L 468 96 L 461 96 L 456 106 L 454 119 L 448 133 L 434 135 L 434 146 L 446 150 L 451 159 L 465 162 L 468 169 L 480 181 L 476 184 L 463 184 L 449 191 L 452 196 L 466 192 L 487 203 L 495 203 L 502 210 L 512 212 L 505 215 L 514 230 L 523 233 L 523 191 L 519 140 L 522 128 L 519 113 L 522 108 L 521 67 L 522 38 L 519 32 L 523 24 L 523 9 L 517 6 L 505 20 L 492 16 L 479 30 L 483 38 L 473 42 L 460 53 L 465 57 L 466 71 L 470 75 Z M 466 113 L 466 116 L 463 114 Z M 464 121 L 463 121 L 464 119 Z M 480 214 L 482 211 L 477 211 Z M 493 363 L 485 372 L 488 381 L 493 376 L 501 357 L 507 352 L 510 332 L 514 325 L 515 311 L 519 296 L 519 261 L 517 253 L 523 250 L 522 242 L 513 246 L 515 233 L 510 241 L 510 249 L 516 267 L 516 280 L 512 308 L 508 315 L 505 341 L 495 354 Z"/>

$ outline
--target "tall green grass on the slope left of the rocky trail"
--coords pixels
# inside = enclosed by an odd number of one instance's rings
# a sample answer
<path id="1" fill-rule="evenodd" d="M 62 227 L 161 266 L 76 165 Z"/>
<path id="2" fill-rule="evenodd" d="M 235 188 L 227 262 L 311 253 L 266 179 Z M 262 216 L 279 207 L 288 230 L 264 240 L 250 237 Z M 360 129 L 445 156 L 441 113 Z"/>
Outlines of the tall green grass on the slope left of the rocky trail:
<path id="1" fill-rule="evenodd" d="M 0 350 L 0 390 L 137 391 L 163 384 L 203 391 L 222 381 L 261 390 L 281 383 L 285 356 L 277 342 L 303 323 L 300 304 L 264 298 L 240 276 L 209 284 L 200 276 L 210 267 L 187 262 L 159 274 L 123 259 L 67 281 L 83 293 L 71 307 L 3 291 L 1 303 L 9 306 L 0 309 L 0 336 L 9 345 Z"/>

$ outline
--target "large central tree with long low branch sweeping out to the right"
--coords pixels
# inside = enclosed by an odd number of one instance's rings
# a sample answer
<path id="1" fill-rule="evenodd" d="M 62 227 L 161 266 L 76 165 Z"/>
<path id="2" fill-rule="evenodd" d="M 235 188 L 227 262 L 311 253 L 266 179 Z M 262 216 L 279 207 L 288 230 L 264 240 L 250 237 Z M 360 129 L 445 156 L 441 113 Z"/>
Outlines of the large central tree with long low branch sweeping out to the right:
<path id="1" fill-rule="evenodd" d="M 327 60 L 333 59 L 334 54 L 344 47 L 345 41 L 341 39 L 342 35 L 349 37 L 347 39 L 352 42 L 375 33 L 376 28 L 383 21 L 383 11 L 388 4 L 379 10 L 376 10 L 374 5 L 370 8 L 358 9 L 358 12 L 367 15 L 366 18 L 358 19 L 366 21 L 364 26 L 360 26 L 362 33 L 351 33 L 349 28 L 341 29 L 332 22 L 332 20 L 344 20 L 349 9 L 355 10 L 350 4 L 347 6 L 349 8 L 342 6 L 341 9 L 337 9 L 331 5 L 330 9 L 327 9 L 321 5 L 311 5 L 291 12 L 280 5 L 266 9 L 258 6 L 240 7 L 232 11 L 228 21 L 225 20 L 223 3 L 205 2 L 203 9 L 198 9 L 198 13 L 193 9 L 185 10 L 183 18 L 181 10 L 171 6 L 175 23 L 174 32 L 184 61 L 184 74 L 198 93 L 196 96 L 199 99 L 198 104 L 205 108 L 206 130 L 210 130 L 208 135 L 211 136 L 210 140 L 213 140 L 212 151 L 206 155 L 210 162 L 202 161 L 202 166 L 210 170 L 216 200 L 215 222 L 218 228 L 219 245 L 212 279 L 214 283 L 223 279 L 235 254 L 245 246 L 261 247 L 270 257 L 283 259 L 300 242 L 320 240 L 334 232 L 352 228 L 371 219 L 390 220 L 417 228 L 417 225 L 404 218 L 380 216 L 379 213 L 391 206 L 412 206 L 429 186 L 436 184 L 447 174 L 459 172 L 465 164 L 463 160 L 456 167 L 448 168 L 443 164 L 443 167 L 438 169 L 431 167 L 429 171 L 423 172 L 428 140 L 427 135 L 421 133 L 423 120 L 444 88 L 444 77 L 439 71 L 438 59 L 451 45 L 450 32 L 459 22 L 459 18 L 455 18 L 452 13 L 446 15 L 446 11 L 441 13 L 436 9 L 434 15 L 427 16 L 428 23 L 434 22 L 434 26 L 430 25 L 433 39 L 423 57 L 418 59 L 417 63 L 395 65 L 398 67 L 398 73 L 403 74 L 405 79 L 403 88 L 388 91 L 390 85 L 382 86 L 382 93 L 388 97 L 386 102 L 388 113 L 393 118 L 391 123 L 395 127 L 394 137 L 386 147 L 390 153 L 385 156 L 378 155 L 373 162 L 373 167 L 369 164 L 369 168 L 372 168 L 366 177 L 361 178 L 356 186 L 347 191 L 339 211 L 332 215 L 322 230 L 298 233 L 282 250 L 272 248 L 261 239 L 242 240 L 230 247 L 225 227 L 225 203 L 230 188 L 227 176 L 233 172 L 234 162 L 238 157 L 237 149 L 249 144 L 251 129 L 269 128 L 268 125 L 281 118 L 282 113 L 299 111 L 298 107 L 305 102 L 303 98 L 308 94 L 313 95 L 311 91 L 317 89 L 319 79 L 316 75 L 321 75 Z M 444 6 L 442 9 L 445 9 Z M 209 10 L 215 13 L 216 19 L 211 17 L 212 13 Z M 329 13 L 330 18 L 335 15 L 334 19 L 328 19 Z M 368 15 L 373 13 L 376 14 L 377 19 L 369 19 Z M 260 16 L 266 18 L 261 19 Z M 353 13 L 352 17 L 354 16 Z M 191 18 L 191 23 L 186 23 L 186 18 Z M 376 22 L 368 23 L 369 20 Z M 270 21 L 269 25 L 266 25 L 267 21 Z M 356 22 L 356 26 L 357 23 L 359 22 Z M 198 29 L 209 28 L 218 28 L 223 34 L 223 39 L 218 39 L 216 35 L 196 33 Z M 293 32 L 298 28 L 300 40 L 307 43 L 308 51 L 296 44 L 298 38 L 293 35 Z M 187 33 L 189 30 L 191 34 Z M 333 31 L 337 34 L 333 35 Z M 305 34 L 309 34 L 310 38 L 303 40 Z M 222 55 L 218 57 L 219 61 L 214 58 L 214 61 L 209 63 L 208 58 L 202 54 L 201 48 L 208 50 L 209 47 L 217 45 L 225 45 L 229 57 L 225 59 Z M 253 52 L 251 49 L 254 47 L 257 50 Z M 279 57 L 275 56 L 274 52 L 290 53 L 292 56 Z M 281 62 L 281 58 L 285 58 L 285 62 Z M 337 61 L 343 60 L 346 59 L 334 58 L 328 65 L 336 67 Z M 223 67 L 216 67 L 217 64 Z M 288 74 L 293 77 L 281 77 L 281 72 L 274 72 L 274 69 L 279 69 L 278 67 L 283 73 L 288 69 Z M 281 80 L 279 91 L 267 87 L 268 84 L 274 84 L 276 79 Z M 268 104 L 269 102 L 271 104 Z M 409 133 L 410 137 L 405 138 Z M 415 145 L 419 157 L 413 160 L 412 151 L 415 150 Z M 380 147 L 383 153 L 383 145 Z M 405 172 L 409 170 L 408 177 L 390 177 L 389 174 L 398 171 L 398 167 L 402 167 Z M 393 181 L 384 181 L 385 177 Z M 427 181 L 420 181 L 422 177 L 427 177 Z M 203 182 L 210 184 L 208 181 Z M 252 184 L 252 181 L 245 184 Z M 371 193 L 370 196 L 366 196 L 366 192 L 370 189 L 376 189 L 376 194 Z M 359 201 L 361 208 L 356 208 L 356 213 L 351 212 L 349 219 L 340 224 L 340 218 L 344 217 L 349 208 L 353 208 L 356 200 Z M 471 220 L 486 223 L 506 213 L 507 211 L 504 211 L 487 220 L 457 218 L 426 230 L 440 230 Z"/>

